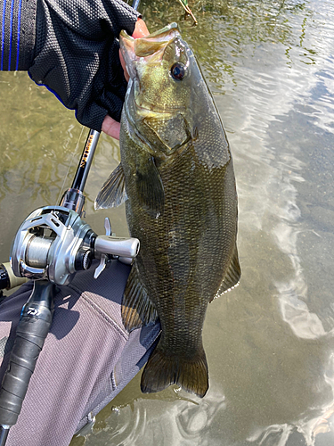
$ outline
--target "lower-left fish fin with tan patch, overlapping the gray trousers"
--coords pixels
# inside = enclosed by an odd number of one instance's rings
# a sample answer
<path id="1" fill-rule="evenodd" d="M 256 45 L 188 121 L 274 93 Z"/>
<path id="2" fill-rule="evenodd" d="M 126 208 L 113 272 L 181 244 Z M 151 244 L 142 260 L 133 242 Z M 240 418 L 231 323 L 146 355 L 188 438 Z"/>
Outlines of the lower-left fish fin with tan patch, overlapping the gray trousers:
<path id="1" fill-rule="evenodd" d="M 127 279 L 126 289 L 122 301 L 122 319 L 126 330 L 131 332 L 134 328 L 146 326 L 155 322 L 158 313 L 151 303 L 147 291 L 140 279 L 138 269 L 132 267 Z"/>

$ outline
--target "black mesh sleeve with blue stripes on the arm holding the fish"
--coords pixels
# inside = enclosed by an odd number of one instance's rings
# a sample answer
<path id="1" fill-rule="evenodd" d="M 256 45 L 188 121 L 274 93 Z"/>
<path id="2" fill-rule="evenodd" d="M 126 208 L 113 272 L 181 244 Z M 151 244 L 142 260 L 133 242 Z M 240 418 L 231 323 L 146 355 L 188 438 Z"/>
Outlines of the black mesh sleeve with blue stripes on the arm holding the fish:
<path id="1" fill-rule="evenodd" d="M 140 14 L 122 0 L 12 1 L 17 8 L 21 4 L 20 23 L 26 23 L 29 34 L 23 37 L 17 29 L 25 46 L 18 46 L 16 68 L 12 62 L 3 69 L 29 70 L 38 85 L 75 110 L 77 120 L 89 128 L 100 131 L 107 113 L 119 121 L 126 79 L 119 61 L 118 35 L 121 29 L 132 35 Z M 9 29 L 12 15 L 11 11 L 4 13 L 5 21 L 10 17 Z M 8 32 L 4 34 L 10 36 L 9 44 L 3 44 L 8 54 L 2 52 L 6 61 L 11 59 L 13 35 Z"/>

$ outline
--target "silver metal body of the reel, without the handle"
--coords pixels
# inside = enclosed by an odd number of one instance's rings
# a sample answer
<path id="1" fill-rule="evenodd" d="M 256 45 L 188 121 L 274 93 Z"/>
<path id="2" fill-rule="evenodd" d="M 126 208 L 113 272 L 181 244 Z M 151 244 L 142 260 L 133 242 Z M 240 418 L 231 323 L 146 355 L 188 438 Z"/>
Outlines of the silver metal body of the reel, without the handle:
<path id="1" fill-rule="evenodd" d="M 33 211 L 21 224 L 11 250 L 15 276 L 67 285 L 76 272 L 77 252 L 91 227 L 62 206 Z M 86 247 L 87 249 L 89 247 Z"/>

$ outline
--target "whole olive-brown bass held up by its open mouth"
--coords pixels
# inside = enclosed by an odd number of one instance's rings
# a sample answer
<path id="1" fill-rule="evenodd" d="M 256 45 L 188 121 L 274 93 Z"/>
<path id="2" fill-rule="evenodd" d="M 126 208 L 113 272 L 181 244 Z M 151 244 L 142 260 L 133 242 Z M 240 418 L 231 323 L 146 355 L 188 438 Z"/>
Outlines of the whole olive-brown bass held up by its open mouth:
<path id="1" fill-rule="evenodd" d="M 121 115 L 121 161 L 95 209 L 126 202 L 140 240 L 122 301 L 129 331 L 158 318 L 159 343 L 142 392 L 177 384 L 203 397 L 208 361 L 202 329 L 208 303 L 240 281 L 238 200 L 223 123 L 176 23 L 120 48 L 129 82 Z"/>

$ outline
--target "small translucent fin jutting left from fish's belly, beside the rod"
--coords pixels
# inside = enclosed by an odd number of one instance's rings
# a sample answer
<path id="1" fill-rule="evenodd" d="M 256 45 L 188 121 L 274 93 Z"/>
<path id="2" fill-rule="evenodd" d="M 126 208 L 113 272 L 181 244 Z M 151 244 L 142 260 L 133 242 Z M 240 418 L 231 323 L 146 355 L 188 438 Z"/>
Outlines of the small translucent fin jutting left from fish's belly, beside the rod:
<path id="1" fill-rule="evenodd" d="M 111 172 L 110 177 L 97 195 L 94 208 L 95 210 L 115 208 L 125 202 L 126 199 L 126 178 L 122 165 L 118 164 L 118 167 Z"/>

